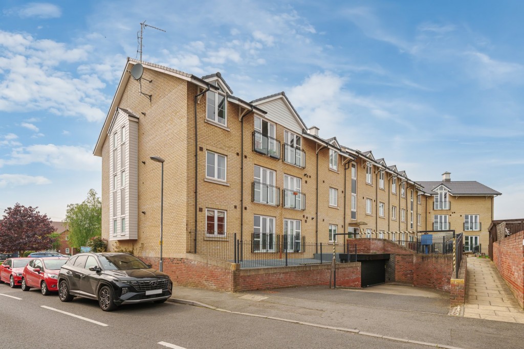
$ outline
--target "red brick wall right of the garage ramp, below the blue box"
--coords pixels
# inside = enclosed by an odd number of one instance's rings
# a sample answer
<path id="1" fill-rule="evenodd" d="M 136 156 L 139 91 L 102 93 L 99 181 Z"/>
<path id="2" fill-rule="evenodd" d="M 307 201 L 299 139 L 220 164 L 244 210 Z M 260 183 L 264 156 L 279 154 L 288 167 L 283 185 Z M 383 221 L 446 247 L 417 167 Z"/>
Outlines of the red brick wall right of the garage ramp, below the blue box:
<path id="1" fill-rule="evenodd" d="M 450 292 L 453 256 L 417 254 L 414 257 L 413 286 Z"/>

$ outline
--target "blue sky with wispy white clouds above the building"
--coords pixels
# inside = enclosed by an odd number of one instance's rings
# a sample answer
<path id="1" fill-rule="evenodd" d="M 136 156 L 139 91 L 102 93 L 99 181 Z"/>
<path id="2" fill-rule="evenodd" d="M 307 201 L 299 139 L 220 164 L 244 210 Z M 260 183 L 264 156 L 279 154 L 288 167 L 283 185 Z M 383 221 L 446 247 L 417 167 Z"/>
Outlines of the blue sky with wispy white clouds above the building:
<path id="1" fill-rule="evenodd" d="M 372 150 L 415 181 L 478 181 L 524 198 L 521 1 L 56 1 L 0 4 L 0 211 L 53 220 L 90 188 L 92 155 L 126 57 L 237 97 L 285 91 L 306 125 Z"/>

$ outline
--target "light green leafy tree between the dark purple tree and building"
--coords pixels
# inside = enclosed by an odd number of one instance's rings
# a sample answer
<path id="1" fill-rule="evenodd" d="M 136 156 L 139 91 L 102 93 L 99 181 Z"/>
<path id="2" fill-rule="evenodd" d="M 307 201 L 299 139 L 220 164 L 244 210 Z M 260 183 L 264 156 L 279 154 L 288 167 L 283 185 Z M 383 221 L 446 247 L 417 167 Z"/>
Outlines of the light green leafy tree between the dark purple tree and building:
<path id="1" fill-rule="evenodd" d="M 89 238 L 102 235 L 102 201 L 90 189 L 82 204 L 69 204 L 64 222 L 69 227 L 69 243 L 80 249 L 86 246 Z"/>

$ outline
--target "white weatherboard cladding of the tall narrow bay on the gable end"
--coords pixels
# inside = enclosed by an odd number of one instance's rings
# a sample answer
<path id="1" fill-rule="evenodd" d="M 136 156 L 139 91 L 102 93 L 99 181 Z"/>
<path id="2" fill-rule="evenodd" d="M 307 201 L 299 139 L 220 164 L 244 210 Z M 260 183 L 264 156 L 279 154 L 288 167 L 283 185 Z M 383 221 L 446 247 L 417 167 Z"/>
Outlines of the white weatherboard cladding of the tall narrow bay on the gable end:
<path id="1" fill-rule="evenodd" d="M 124 164 L 120 163 L 121 156 L 121 129 L 125 128 L 125 150 L 124 150 Z M 113 133 L 117 132 L 117 153 L 116 159 L 113 159 Z M 108 132 L 110 140 L 110 168 L 113 169 L 113 162 L 116 161 L 116 173 L 117 173 L 117 233 L 113 231 L 113 175 L 114 172 L 110 171 L 110 183 L 111 183 L 111 194 L 110 194 L 110 240 L 136 240 L 138 238 L 138 119 L 130 117 L 123 111 L 118 110 L 113 121 L 112 127 Z M 125 170 L 125 212 L 124 216 L 120 215 L 122 198 L 121 198 L 121 172 Z M 122 218 L 126 219 L 126 231 L 125 234 L 121 234 Z"/>

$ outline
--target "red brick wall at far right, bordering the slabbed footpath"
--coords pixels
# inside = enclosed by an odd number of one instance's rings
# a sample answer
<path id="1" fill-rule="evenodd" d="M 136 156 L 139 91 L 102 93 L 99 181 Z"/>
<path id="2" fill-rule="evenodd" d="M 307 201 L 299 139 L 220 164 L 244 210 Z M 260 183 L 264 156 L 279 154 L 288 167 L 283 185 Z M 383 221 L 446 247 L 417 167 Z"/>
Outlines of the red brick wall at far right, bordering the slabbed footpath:
<path id="1" fill-rule="evenodd" d="M 493 263 L 524 308 L 524 231 L 493 243 Z"/>

